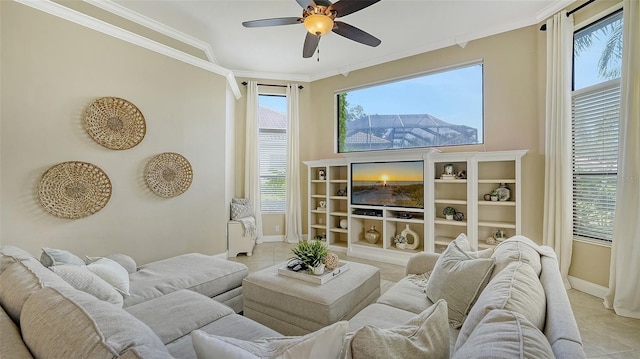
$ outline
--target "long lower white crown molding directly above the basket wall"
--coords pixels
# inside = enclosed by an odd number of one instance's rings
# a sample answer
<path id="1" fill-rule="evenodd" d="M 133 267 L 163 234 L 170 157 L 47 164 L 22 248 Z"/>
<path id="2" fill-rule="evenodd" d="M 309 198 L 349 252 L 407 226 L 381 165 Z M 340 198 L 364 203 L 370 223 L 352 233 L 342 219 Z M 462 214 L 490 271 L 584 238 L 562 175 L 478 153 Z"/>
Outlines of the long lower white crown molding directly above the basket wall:
<path id="1" fill-rule="evenodd" d="M 184 62 L 186 64 L 196 66 L 203 70 L 224 76 L 227 79 L 228 86 L 231 88 L 234 95 L 236 96 L 236 99 L 239 99 L 241 97 L 240 88 L 238 87 L 238 84 L 235 81 L 233 72 L 223 68 L 222 66 L 213 64 L 209 61 L 203 60 L 196 56 L 176 50 L 172 47 L 161 44 L 157 41 L 153 41 L 146 37 L 135 34 L 131 31 L 124 30 L 122 28 L 111 25 L 102 20 L 98 20 L 94 17 L 88 16 L 86 14 L 75 11 L 73 9 L 69 9 L 68 7 L 52 2 L 50 0 L 15 0 L 15 1 L 20 4 L 34 8 L 36 10 L 43 11 L 47 14 L 59 17 L 61 19 L 65 19 L 67 21 L 71 21 L 75 24 L 87 27 L 92 30 L 101 32 L 105 35 L 112 36 L 114 38 L 143 47 L 145 49 L 159 53 L 161 55 L 168 56 L 175 60 Z"/>

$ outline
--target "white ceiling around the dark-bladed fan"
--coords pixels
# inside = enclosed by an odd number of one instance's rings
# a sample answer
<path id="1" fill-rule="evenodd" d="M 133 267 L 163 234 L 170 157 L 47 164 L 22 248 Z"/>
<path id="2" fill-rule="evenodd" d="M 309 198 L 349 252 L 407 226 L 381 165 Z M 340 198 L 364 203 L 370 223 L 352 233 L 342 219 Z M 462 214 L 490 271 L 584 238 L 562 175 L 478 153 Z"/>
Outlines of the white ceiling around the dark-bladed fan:
<path id="1" fill-rule="evenodd" d="M 91 0 L 88 0 L 91 1 Z M 94 2 L 96 0 L 93 0 Z M 537 24 L 574 0 L 382 0 L 339 18 L 382 40 L 369 47 L 334 33 L 320 61 L 302 58 L 302 24 L 245 28 L 242 22 L 302 15 L 295 0 L 116 0 L 210 46 L 212 62 L 239 77 L 313 81 Z"/>

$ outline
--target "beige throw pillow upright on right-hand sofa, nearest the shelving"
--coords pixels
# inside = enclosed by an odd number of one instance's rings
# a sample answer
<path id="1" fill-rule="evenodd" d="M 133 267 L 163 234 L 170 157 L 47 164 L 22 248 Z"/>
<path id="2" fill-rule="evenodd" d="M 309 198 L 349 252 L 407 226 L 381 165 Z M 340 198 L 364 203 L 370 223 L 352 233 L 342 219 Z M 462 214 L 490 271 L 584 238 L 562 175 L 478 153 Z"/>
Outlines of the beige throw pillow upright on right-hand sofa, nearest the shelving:
<path id="1" fill-rule="evenodd" d="M 493 258 L 473 258 L 451 242 L 442 253 L 427 281 L 427 298 L 435 303 L 447 301 L 449 324 L 462 326 L 471 306 L 487 285 L 493 271 Z"/>

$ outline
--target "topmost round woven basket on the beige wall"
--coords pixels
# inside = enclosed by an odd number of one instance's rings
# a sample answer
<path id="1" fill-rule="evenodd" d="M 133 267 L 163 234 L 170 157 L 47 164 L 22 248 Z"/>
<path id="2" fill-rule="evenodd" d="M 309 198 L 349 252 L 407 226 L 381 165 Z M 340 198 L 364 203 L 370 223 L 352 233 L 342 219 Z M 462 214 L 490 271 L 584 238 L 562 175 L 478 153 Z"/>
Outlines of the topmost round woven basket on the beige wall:
<path id="1" fill-rule="evenodd" d="M 84 128 L 102 146 L 126 150 L 142 142 L 147 127 L 144 116 L 131 102 L 117 97 L 102 97 L 84 111 Z"/>

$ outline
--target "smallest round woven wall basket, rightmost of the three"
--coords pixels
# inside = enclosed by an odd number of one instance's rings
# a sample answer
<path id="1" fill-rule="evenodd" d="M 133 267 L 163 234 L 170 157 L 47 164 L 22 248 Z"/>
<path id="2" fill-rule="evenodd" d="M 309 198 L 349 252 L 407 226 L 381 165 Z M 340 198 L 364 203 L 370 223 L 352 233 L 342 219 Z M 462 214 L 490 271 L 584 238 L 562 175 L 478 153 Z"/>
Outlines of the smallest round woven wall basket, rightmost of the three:
<path id="1" fill-rule="evenodd" d="M 175 197 L 189 189 L 193 170 L 183 156 L 165 152 L 149 160 L 144 169 L 144 180 L 158 196 Z"/>

